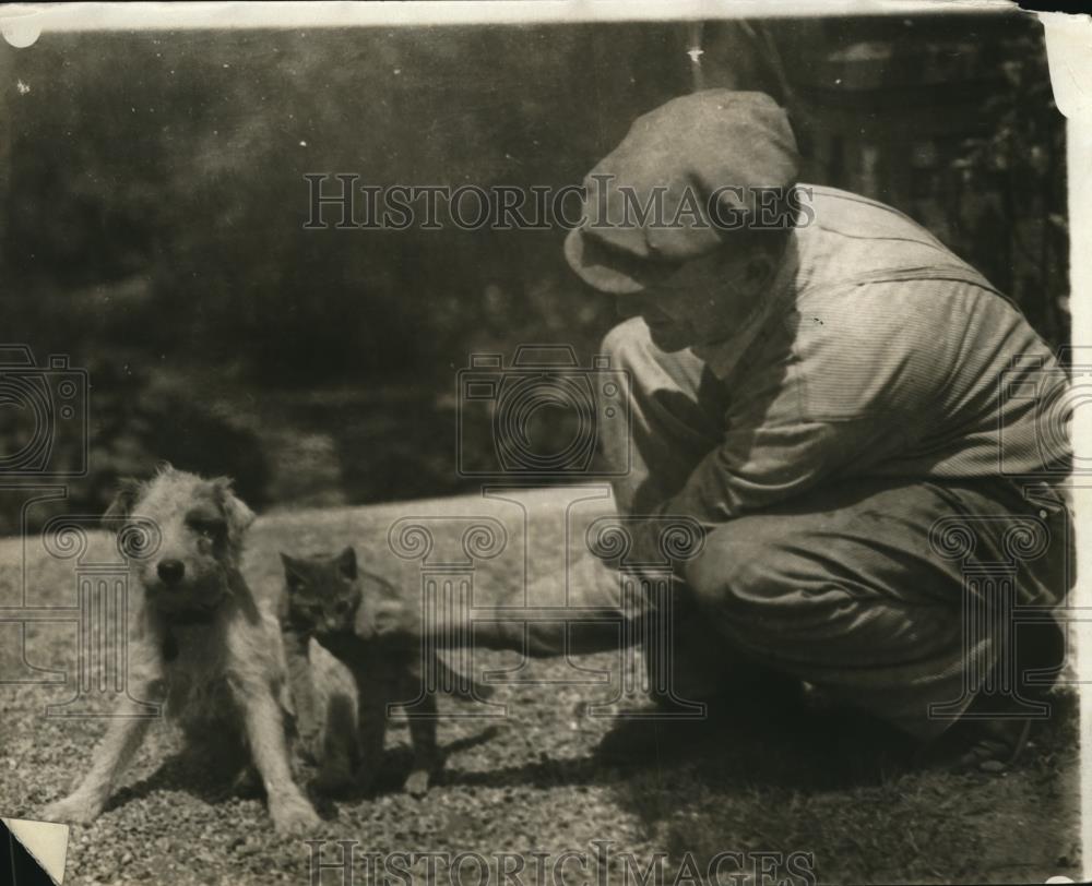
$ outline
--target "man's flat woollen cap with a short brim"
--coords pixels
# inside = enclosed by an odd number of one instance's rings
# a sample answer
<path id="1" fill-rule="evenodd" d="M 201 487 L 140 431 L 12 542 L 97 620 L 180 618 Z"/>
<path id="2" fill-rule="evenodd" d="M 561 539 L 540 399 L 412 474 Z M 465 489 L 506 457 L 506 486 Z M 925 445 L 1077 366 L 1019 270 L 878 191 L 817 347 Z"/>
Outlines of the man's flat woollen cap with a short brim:
<path id="1" fill-rule="evenodd" d="M 732 230 L 753 228 L 762 201 L 780 199 L 783 212 L 798 171 L 788 117 L 764 93 L 672 99 L 633 121 L 587 173 L 566 259 L 596 289 L 639 292 L 719 249 Z"/>

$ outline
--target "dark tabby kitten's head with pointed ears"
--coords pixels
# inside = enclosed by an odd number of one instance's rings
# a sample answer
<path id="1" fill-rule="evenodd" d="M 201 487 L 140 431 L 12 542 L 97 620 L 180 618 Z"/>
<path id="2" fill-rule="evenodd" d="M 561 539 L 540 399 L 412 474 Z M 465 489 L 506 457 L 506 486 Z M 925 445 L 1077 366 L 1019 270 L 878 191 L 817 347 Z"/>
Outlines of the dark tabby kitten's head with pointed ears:
<path id="1" fill-rule="evenodd" d="M 298 630 L 314 634 L 353 632 L 360 608 L 356 553 L 307 558 L 281 554 L 284 563 L 285 604 L 282 618 Z"/>

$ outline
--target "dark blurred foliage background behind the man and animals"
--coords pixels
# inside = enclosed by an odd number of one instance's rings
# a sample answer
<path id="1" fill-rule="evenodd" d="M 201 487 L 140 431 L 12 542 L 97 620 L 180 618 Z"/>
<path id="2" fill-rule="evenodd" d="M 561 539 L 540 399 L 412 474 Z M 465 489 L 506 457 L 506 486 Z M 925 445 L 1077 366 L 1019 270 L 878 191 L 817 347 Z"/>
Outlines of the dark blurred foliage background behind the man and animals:
<path id="1" fill-rule="evenodd" d="M 305 230 L 304 175 L 579 183 L 696 85 L 773 95 L 805 181 L 915 217 L 1067 340 L 1065 128 L 1029 15 L 45 34 L 0 43 L 0 280 L 4 340 L 90 373 L 88 472 L 57 508 L 159 459 L 258 508 L 477 488 L 456 371 L 523 343 L 586 366 L 613 304 L 563 230 Z M 0 457 L 26 433 L 0 397 Z M 464 434 L 491 446 L 487 420 Z"/>

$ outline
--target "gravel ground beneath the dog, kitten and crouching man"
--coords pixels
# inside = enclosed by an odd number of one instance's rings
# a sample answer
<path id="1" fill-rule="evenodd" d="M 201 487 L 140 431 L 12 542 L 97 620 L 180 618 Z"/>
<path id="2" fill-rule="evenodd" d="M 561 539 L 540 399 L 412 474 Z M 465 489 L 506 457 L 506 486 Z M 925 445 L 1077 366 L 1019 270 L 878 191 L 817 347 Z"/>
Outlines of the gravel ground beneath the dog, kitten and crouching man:
<path id="1" fill-rule="evenodd" d="M 557 562 L 560 494 L 521 495 L 522 511 L 461 499 L 273 513 L 254 525 L 246 572 L 256 592 L 269 600 L 280 583 L 277 549 L 354 543 L 363 561 L 416 592 L 416 564 L 387 549 L 392 520 L 495 514 L 518 553 L 482 566 L 475 592 L 487 599 L 501 583 L 534 576 L 535 564 Z M 578 506 L 578 523 L 601 514 L 603 505 Z M 530 539 L 525 556 L 524 538 Z M 109 544 L 96 535 L 92 549 Z M 21 546 L 17 539 L 0 541 L 0 604 L 17 602 Z M 71 604 L 71 562 L 50 560 L 36 539 L 27 544 L 26 574 L 28 600 Z M 12 626 L 3 632 L 0 677 L 9 680 L 20 672 L 17 635 Z M 27 658 L 36 667 L 66 667 L 73 647 L 71 623 L 27 630 Z M 615 660 L 594 656 L 581 664 L 606 669 Z M 487 667 L 514 661 L 483 657 Z M 585 703 L 602 701 L 606 689 L 557 682 L 571 675 L 563 662 L 532 662 L 521 677 L 538 683 L 499 689 L 497 701 L 508 703 L 503 719 L 441 721 L 440 741 L 450 756 L 425 800 L 399 791 L 408 750 L 404 722 L 395 723 L 387 789 L 375 798 L 323 804 L 327 826 L 316 838 L 358 841 L 357 883 L 368 882 L 368 853 L 395 852 L 477 852 L 487 860 L 518 853 L 526 865 L 519 874 L 523 883 L 538 882 L 536 852 L 547 853 L 545 882 L 557 883 L 596 882 L 601 873 L 624 882 L 624 853 L 632 853 L 642 871 L 664 859 L 670 883 L 675 874 L 696 873 L 687 870 L 688 859 L 704 871 L 717 852 L 763 850 L 814 853 L 822 883 L 1080 877 L 1076 705 L 1069 696 L 1058 696 L 1057 714 L 1036 733 L 1029 759 L 1001 777 L 910 769 L 897 739 L 853 718 L 805 721 L 750 709 L 707 725 L 685 752 L 665 747 L 644 764 L 619 769 L 593 755 L 612 722 L 581 714 Z M 85 770 L 104 721 L 44 715 L 47 704 L 71 694 L 63 685 L 0 685 L 0 814 L 34 817 Z M 441 707 L 465 713 L 448 699 Z M 224 786 L 207 783 L 200 771 L 171 759 L 175 751 L 176 737 L 158 725 L 108 810 L 93 825 L 72 829 L 66 883 L 309 883 L 311 847 L 275 835 L 261 799 L 225 795 Z M 594 840 L 610 841 L 612 860 L 603 871 L 594 862 Z M 321 849 L 328 862 L 341 851 L 334 843 Z M 581 870 L 579 860 L 570 860 L 555 873 L 553 865 L 567 851 L 586 853 L 589 866 Z M 479 882 L 473 859 L 460 870 L 462 882 Z M 721 883 L 748 882 L 729 878 L 734 870 L 725 865 Z M 414 882 L 426 882 L 424 860 L 412 874 Z M 328 870 L 321 882 L 342 883 L 342 876 L 341 870 Z M 436 879 L 448 882 L 442 864 Z M 496 871 L 488 882 L 498 882 Z"/>

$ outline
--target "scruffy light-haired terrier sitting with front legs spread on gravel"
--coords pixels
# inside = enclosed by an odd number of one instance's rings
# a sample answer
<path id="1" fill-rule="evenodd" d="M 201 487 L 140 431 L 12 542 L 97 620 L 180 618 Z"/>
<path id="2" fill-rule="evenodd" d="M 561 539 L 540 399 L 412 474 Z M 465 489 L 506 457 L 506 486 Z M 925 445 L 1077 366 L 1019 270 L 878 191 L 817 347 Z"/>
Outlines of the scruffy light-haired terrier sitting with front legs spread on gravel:
<path id="1" fill-rule="evenodd" d="M 123 481 L 104 519 L 117 525 L 138 517 L 157 527 L 158 547 L 127 551 L 142 589 L 130 640 L 129 695 L 163 703 L 188 749 L 207 755 L 205 765 L 223 766 L 228 757 L 228 765 L 252 762 L 278 831 L 316 827 L 320 819 L 292 777 L 278 628 L 239 572 L 253 513 L 228 479 L 165 466 L 147 482 Z M 118 706 L 91 771 L 44 818 L 87 823 L 98 816 L 151 722 L 133 713 L 131 703 Z"/>

